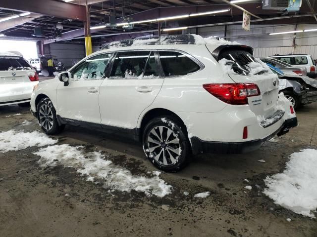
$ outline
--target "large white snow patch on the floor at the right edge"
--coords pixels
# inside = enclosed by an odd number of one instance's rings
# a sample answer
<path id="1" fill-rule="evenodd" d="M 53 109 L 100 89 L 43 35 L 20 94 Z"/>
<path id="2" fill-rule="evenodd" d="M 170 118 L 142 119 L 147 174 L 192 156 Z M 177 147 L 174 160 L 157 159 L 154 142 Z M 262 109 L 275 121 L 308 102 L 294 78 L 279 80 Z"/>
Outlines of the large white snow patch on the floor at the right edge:
<path id="1" fill-rule="evenodd" d="M 295 213 L 315 218 L 317 208 L 317 150 L 293 153 L 283 173 L 266 177 L 264 194 Z"/>

